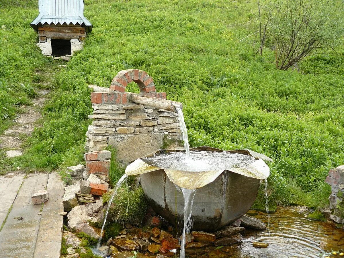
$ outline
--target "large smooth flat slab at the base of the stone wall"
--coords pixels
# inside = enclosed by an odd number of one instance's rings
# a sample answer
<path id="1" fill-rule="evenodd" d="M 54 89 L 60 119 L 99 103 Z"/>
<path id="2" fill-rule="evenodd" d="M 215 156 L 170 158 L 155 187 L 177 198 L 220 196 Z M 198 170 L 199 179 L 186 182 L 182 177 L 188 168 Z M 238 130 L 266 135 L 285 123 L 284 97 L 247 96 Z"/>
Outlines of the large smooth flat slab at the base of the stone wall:
<path id="1" fill-rule="evenodd" d="M 117 159 L 130 162 L 160 149 L 164 133 L 109 136 L 109 146 L 117 149 Z M 132 148 L 140 146 L 140 148 Z"/>

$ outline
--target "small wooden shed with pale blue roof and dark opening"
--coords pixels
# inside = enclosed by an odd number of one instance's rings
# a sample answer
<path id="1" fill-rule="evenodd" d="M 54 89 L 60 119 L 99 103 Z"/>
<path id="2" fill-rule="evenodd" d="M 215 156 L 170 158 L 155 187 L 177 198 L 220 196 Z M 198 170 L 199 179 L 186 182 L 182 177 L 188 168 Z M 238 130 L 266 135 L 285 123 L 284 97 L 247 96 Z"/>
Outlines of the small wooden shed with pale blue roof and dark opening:
<path id="1" fill-rule="evenodd" d="M 83 0 L 39 0 L 38 8 L 30 25 L 39 35 L 42 54 L 68 56 L 82 49 L 93 27 L 84 16 Z"/>

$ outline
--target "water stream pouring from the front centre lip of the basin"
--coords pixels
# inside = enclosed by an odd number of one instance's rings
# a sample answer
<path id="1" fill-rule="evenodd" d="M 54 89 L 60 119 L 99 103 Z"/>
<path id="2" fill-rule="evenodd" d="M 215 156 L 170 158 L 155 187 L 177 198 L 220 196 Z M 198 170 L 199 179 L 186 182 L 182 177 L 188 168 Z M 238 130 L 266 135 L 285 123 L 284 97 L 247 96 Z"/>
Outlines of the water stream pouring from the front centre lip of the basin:
<path id="1" fill-rule="evenodd" d="M 184 227 L 182 234 L 182 242 L 180 245 L 180 258 L 185 258 L 185 235 L 190 233 L 192 226 L 191 213 L 192 205 L 195 197 L 196 189 L 186 189 L 183 187 L 177 188 L 179 191 L 182 191 L 184 197 Z"/>

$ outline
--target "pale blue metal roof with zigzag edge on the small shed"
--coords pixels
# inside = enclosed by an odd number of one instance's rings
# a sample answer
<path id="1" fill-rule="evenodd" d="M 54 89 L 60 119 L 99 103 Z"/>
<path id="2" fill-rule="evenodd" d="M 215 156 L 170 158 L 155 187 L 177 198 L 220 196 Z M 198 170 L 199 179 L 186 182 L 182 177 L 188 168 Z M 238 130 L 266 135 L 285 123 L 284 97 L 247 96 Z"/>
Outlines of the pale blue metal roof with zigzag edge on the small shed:
<path id="1" fill-rule="evenodd" d="M 39 0 L 40 14 L 30 23 L 34 30 L 38 30 L 38 24 L 79 24 L 86 25 L 89 31 L 92 24 L 84 16 L 83 0 Z"/>

